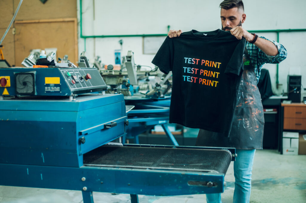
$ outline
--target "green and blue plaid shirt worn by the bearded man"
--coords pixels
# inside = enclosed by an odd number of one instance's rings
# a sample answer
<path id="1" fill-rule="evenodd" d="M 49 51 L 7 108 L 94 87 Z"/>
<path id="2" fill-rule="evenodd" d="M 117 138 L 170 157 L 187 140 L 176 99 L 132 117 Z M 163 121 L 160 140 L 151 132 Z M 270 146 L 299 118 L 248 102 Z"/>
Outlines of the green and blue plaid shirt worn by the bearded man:
<path id="1" fill-rule="evenodd" d="M 263 39 L 267 39 L 264 37 L 260 37 Z M 267 39 L 269 40 L 269 39 Z M 281 61 L 283 61 L 286 57 L 287 57 L 287 50 L 285 49 L 285 47 L 277 42 L 271 41 L 273 42 L 274 45 L 277 47 L 278 49 L 278 54 L 276 56 L 268 56 L 267 54 L 265 54 L 262 50 L 260 50 L 256 45 L 251 44 L 249 42 L 247 42 L 246 44 L 246 48 L 248 50 L 248 54 L 250 56 L 250 60 L 252 62 L 253 68 L 254 68 L 254 72 L 257 78 L 257 83 L 259 80 L 259 76 L 260 76 L 260 71 L 261 68 L 263 67 L 263 64 L 265 63 L 280 63 Z"/>

